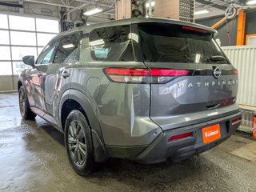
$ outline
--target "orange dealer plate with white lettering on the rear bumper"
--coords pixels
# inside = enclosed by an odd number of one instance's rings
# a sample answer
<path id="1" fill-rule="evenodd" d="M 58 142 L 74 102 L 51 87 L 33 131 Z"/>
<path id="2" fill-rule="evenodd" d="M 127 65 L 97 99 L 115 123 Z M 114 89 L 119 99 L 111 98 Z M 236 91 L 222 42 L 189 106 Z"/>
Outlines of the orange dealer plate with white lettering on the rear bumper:
<path id="1" fill-rule="evenodd" d="M 219 124 L 202 128 L 203 143 L 214 142 L 221 137 L 221 129 Z"/>

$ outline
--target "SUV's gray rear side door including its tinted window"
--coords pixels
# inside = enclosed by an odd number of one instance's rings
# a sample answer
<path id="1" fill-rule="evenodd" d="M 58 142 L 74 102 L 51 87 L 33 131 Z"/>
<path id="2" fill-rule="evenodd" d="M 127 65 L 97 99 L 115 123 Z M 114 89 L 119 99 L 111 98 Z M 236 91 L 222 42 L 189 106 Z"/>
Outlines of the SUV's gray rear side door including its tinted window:
<path id="1" fill-rule="evenodd" d="M 80 32 L 67 34 L 60 39 L 54 51 L 53 62 L 47 66 L 43 78 L 43 100 L 46 114 L 57 118 L 58 99 L 70 88 L 70 69 L 78 62 Z M 62 87 L 64 88 L 62 89 Z"/>

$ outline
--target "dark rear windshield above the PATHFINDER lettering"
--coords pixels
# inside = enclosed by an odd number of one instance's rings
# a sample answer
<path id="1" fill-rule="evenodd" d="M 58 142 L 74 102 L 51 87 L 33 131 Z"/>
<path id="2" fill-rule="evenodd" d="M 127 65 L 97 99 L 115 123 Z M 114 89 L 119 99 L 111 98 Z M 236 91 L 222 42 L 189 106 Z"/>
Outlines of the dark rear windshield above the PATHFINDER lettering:
<path id="1" fill-rule="evenodd" d="M 230 63 L 206 30 L 166 23 L 139 23 L 139 43 L 145 62 Z"/>

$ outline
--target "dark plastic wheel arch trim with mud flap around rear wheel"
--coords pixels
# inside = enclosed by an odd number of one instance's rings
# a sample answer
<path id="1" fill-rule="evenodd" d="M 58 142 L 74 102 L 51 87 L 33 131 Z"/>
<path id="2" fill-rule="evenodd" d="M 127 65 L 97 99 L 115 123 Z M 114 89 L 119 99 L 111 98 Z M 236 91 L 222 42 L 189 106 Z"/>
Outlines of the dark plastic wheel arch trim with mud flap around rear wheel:
<path id="1" fill-rule="evenodd" d="M 109 158 L 109 155 L 104 146 L 104 139 L 98 116 L 89 98 L 78 90 L 66 90 L 66 92 L 62 94 L 59 107 L 59 121 L 61 122 L 63 133 L 65 133 L 64 129 L 67 115 L 70 114 L 71 110 L 82 111 L 90 125 L 95 161 L 106 161 L 106 159 Z"/>

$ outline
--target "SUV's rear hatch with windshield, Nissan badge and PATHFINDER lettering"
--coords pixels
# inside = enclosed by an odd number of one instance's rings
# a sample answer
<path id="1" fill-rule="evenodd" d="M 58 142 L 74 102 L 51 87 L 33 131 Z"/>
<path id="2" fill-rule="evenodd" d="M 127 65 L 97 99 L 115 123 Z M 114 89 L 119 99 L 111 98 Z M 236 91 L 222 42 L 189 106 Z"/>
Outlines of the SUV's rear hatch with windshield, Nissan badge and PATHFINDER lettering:
<path id="1" fill-rule="evenodd" d="M 138 23 L 142 60 L 150 69 L 150 118 L 163 130 L 234 114 L 238 71 L 214 30 L 164 22 Z"/>

